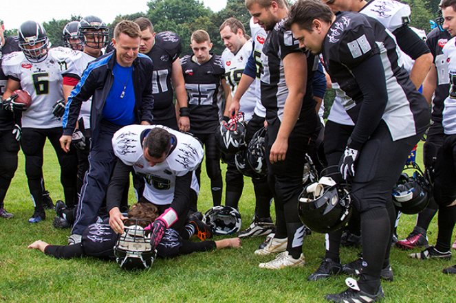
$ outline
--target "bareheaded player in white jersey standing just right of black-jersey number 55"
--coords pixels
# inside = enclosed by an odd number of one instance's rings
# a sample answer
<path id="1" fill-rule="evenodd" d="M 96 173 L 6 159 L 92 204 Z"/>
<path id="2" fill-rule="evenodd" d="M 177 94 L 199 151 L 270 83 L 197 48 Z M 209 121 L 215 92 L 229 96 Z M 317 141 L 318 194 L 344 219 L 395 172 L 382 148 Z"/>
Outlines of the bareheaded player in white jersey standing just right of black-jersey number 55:
<path id="1" fill-rule="evenodd" d="M 232 96 L 236 93 L 244 67 L 253 50 L 254 40 L 248 39 L 245 33 L 246 29 L 243 24 L 235 18 L 226 19 L 220 25 L 221 40 L 224 41 L 226 46 L 226 49 L 221 54 L 221 60 L 224 63 L 225 78 L 226 82 L 230 84 Z M 263 127 L 265 116 L 265 108 L 261 104 L 261 98 L 257 98 L 255 85 L 250 86 L 246 93 L 243 93 L 237 104 L 239 104 L 237 111 L 244 113 L 244 120 L 248 122 L 245 136 L 245 140 L 248 143 L 254 133 Z M 243 175 L 237 170 L 235 155 L 225 155 L 225 161 L 228 164 L 225 178 L 225 204 L 237 209 L 243 190 Z M 239 238 L 270 234 L 274 227 L 270 215 L 272 192 L 268 186 L 268 179 L 266 177 L 260 179 L 252 178 L 252 182 L 257 203 L 257 207 L 255 207 L 256 213 L 250 227 L 239 232 Z"/>

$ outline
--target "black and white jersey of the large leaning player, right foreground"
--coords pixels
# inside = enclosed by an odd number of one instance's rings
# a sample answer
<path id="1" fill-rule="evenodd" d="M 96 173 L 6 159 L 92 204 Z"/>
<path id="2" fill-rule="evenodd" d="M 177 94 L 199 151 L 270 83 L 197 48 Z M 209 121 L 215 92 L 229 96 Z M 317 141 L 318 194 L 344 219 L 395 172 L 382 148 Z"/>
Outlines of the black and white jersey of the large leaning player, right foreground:
<path id="1" fill-rule="evenodd" d="M 402 54 L 393 34 L 380 21 L 356 12 L 341 12 L 327 32 L 322 53 L 336 95 L 355 124 L 363 95 L 351 69 L 380 55 L 389 96 L 382 120 L 392 139 L 410 137 L 428 126 L 427 102 L 400 64 Z"/>

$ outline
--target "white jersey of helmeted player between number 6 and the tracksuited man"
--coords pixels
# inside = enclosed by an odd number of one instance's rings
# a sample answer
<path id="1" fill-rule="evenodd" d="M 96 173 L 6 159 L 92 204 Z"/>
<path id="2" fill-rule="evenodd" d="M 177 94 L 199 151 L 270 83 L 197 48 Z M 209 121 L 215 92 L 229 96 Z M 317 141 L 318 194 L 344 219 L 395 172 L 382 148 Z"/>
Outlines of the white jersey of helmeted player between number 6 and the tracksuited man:
<path id="1" fill-rule="evenodd" d="M 82 78 L 87 65 L 96 58 L 86 54 L 85 52 L 76 51 L 67 47 L 56 47 L 58 52 L 53 52 L 54 58 L 57 60 L 61 68 L 62 76 L 70 76 L 72 78 Z M 90 128 L 90 109 L 92 98 L 83 102 L 80 106 L 79 117 L 83 118 L 84 128 Z"/>

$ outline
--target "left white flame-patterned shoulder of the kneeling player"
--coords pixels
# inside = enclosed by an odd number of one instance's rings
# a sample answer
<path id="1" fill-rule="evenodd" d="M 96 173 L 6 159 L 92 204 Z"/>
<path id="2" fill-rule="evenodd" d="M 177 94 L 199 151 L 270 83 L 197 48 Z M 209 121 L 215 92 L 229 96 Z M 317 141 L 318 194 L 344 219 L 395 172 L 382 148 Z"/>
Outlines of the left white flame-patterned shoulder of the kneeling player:
<path id="1" fill-rule="evenodd" d="M 133 166 L 142 156 L 141 132 L 144 126 L 129 125 L 120 128 L 112 137 L 114 154 L 124 162 Z"/>

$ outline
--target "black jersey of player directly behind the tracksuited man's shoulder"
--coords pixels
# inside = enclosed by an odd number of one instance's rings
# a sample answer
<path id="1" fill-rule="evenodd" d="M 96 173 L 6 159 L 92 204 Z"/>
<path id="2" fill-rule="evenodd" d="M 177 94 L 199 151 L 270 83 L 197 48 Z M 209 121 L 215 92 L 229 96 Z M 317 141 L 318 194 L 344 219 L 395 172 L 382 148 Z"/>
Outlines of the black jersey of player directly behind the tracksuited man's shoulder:
<path id="1" fill-rule="evenodd" d="M 146 54 L 153 61 L 153 121 L 175 117 L 173 106 L 173 87 L 171 73 L 173 62 L 179 59 L 182 52 L 180 37 L 173 32 L 155 34 L 155 44 Z"/>

